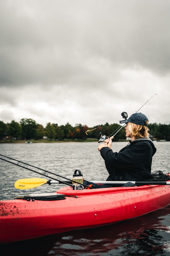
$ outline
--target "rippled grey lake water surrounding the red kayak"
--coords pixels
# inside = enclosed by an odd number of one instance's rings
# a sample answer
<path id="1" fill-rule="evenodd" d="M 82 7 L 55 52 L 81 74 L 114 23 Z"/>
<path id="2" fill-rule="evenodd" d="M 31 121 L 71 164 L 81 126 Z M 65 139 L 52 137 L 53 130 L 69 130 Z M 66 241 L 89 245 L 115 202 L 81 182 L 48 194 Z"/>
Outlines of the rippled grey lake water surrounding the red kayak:
<path id="1" fill-rule="evenodd" d="M 170 172 L 170 142 L 154 143 L 157 152 L 153 157 L 152 171 Z M 119 151 L 127 144 L 128 142 L 114 142 L 113 151 Z M 0 154 L 69 179 L 75 169 L 80 169 L 86 180 L 106 180 L 108 174 L 97 146 L 97 142 L 0 144 Z M 0 160 L 0 199 L 12 199 L 28 193 L 52 193 L 63 186 L 46 184 L 30 190 L 14 187 L 15 181 L 31 177 L 44 176 Z M 0 252 L 1 255 L 12 256 L 18 253 L 24 256 L 169 256 L 170 205 L 114 225 L 1 245 Z"/>

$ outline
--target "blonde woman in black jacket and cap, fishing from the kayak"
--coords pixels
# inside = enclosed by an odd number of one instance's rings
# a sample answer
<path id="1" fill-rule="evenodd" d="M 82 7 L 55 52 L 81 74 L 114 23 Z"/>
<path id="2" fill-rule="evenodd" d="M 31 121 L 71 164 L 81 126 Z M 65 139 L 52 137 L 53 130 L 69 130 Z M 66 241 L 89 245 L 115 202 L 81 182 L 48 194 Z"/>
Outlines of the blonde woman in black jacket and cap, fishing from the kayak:
<path id="1" fill-rule="evenodd" d="M 107 181 L 152 181 L 151 164 L 156 148 L 149 138 L 148 118 L 135 113 L 120 123 L 126 123 L 126 137 L 131 139 L 130 143 L 119 152 L 112 151 L 113 137 L 98 146 L 109 173 Z"/>

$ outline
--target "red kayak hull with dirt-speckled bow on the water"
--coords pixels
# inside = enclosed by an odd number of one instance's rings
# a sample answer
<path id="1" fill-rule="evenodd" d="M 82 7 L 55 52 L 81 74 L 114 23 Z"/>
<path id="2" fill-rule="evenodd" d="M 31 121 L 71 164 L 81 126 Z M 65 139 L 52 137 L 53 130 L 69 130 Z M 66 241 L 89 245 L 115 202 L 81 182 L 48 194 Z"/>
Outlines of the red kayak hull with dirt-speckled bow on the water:
<path id="1" fill-rule="evenodd" d="M 63 187 L 50 196 L 4 200 L 0 201 L 0 243 L 113 224 L 169 204 L 168 185 L 84 190 Z"/>

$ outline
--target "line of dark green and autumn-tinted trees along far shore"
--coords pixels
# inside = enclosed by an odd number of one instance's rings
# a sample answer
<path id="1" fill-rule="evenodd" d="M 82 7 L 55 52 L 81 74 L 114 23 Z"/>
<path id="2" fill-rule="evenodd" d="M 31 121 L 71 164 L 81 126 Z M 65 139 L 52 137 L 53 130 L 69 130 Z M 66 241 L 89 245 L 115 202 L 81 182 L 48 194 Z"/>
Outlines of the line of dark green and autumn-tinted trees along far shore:
<path id="1" fill-rule="evenodd" d="M 11 138 L 20 140 L 40 140 L 46 137 L 50 140 L 86 140 L 88 138 L 100 138 L 100 132 L 110 136 L 115 130 L 121 127 L 119 124 L 98 125 L 88 127 L 87 125 L 76 124 L 74 127 L 69 123 L 58 126 L 58 124 L 47 123 L 46 127 L 37 124 L 31 118 L 22 118 L 20 122 L 12 120 L 11 123 L 5 124 L 0 121 L 0 139 Z M 97 128 L 97 129 L 95 129 Z M 95 129 L 89 131 L 87 130 Z M 170 124 L 149 124 L 150 135 L 155 140 L 170 141 Z M 115 141 L 125 140 L 125 129 L 121 129 L 115 136 Z"/>

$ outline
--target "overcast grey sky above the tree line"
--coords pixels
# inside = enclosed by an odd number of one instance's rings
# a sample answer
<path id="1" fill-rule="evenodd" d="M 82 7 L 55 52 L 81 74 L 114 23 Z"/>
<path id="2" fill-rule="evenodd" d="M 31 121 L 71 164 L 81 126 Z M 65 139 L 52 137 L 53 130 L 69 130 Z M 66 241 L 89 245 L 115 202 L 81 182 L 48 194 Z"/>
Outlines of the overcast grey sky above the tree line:
<path id="1" fill-rule="evenodd" d="M 0 2 L 0 120 L 170 123 L 169 0 Z"/>

